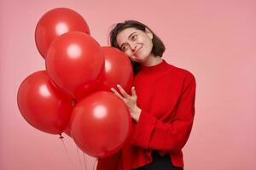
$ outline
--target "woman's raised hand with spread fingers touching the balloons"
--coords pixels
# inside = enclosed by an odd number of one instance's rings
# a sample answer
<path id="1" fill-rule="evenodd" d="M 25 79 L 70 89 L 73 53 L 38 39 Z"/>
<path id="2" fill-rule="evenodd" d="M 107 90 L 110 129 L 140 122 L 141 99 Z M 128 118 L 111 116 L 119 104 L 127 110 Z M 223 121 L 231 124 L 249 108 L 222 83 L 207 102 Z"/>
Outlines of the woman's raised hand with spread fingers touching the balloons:
<path id="1" fill-rule="evenodd" d="M 119 84 L 117 87 L 119 88 L 121 94 L 119 94 L 114 88 L 111 88 L 111 91 L 113 94 L 117 95 L 123 100 L 125 105 L 127 105 L 128 109 L 130 110 L 131 117 L 138 122 L 142 110 L 137 106 L 137 94 L 134 86 L 131 88 L 131 95 L 127 94 Z"/>

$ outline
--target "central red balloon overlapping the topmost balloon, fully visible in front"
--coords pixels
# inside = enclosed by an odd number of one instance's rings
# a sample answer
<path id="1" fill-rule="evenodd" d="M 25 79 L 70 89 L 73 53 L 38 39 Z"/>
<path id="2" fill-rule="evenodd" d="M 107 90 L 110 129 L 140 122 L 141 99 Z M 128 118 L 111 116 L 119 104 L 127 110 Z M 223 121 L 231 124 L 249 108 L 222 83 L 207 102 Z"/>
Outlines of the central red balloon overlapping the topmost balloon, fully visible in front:
<path id="1" fill-rule="evenodd" d="M 79 31 L 57 37 L 45 61 L 51 80 L 78 100 L 93 92 L 104 69 L 100 45 Z"/>

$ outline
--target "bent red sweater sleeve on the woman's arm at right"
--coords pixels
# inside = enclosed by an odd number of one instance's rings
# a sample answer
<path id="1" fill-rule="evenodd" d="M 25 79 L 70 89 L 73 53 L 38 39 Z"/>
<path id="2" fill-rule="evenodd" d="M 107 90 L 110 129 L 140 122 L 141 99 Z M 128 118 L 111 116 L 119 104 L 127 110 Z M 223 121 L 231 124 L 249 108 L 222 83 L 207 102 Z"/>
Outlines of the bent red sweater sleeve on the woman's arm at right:
<path id="1" fill-rule="evenodd" d="M 170 113 L 171 114 L 171 113 Z M 189 73 L 172 121 L 161 122 L 142 110 L 132 144 L 153 150 L 181 150 L 189 139 L 195 115 L 195 77 Z"/>

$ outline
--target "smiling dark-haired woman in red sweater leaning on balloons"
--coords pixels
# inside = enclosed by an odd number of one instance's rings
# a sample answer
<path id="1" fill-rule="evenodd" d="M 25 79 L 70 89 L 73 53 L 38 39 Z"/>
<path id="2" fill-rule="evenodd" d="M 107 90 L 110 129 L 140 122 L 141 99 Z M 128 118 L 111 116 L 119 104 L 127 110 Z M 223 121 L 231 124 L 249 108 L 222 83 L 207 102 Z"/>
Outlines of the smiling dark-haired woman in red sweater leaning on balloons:
<path id="1" fill-rule="evenodd" d="M 182 148 L 195 115 L 195 77 L 161 58 L 163 42 L 143 23 L 126 20 L 109 35 L 133 66 L 131 95 L 120 86 L 120 94 L 112 88 L 130 109 L 133 123 L 122 150 L 100 159 L 97 170 L 182 170 Z"/>

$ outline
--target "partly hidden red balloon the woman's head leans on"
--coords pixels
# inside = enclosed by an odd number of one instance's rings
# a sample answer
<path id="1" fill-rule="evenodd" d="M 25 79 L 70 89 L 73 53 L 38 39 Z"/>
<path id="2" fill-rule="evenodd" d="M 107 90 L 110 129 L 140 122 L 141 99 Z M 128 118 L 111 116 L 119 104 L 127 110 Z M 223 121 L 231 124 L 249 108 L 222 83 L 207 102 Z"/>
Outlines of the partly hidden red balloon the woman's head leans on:
<path id="1" fill-rule="evenodd" d="M 133 71 L 130 59 L 118 48 L 102 47 L 105 67 L 97 90 L 110 91 L 121 85 L 126 92 L 131 91 Z"/>

